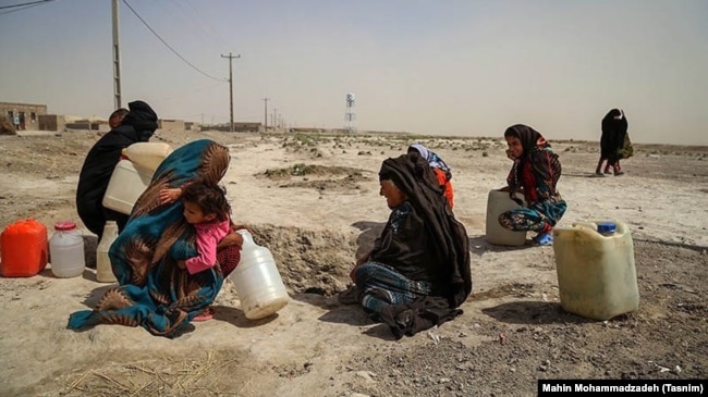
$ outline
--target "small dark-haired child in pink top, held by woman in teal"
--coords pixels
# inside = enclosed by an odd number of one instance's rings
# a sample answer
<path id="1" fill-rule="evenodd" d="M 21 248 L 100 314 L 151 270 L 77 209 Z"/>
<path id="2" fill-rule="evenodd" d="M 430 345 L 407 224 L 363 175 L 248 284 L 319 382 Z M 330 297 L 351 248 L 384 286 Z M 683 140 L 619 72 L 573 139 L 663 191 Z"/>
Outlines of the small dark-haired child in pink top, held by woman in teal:
<path id="1" fill-rule="evenodd" d="M 190 274 L 196 274 L 213 268 L 219 262 L 223 276 L 227 277 L 239 264 L 240 256 L 228 252 L 233 250 L 223 250 L 222 252 L 227 252 L 224 258 L 218 250 L 222 246 L 236 246 L 240 249 L 243 237 L 233 233 L 236 226 L 231 223 L 231 206 L 227 200 L 225 189 L 217 184 L 194 181 L 178 188 L 162 189 L 159 195 L 162 204 L 181 199 L 184 219 L 196 231 L 197 256 L 179 260 L 178 266 L 186 269 Z M 207 308 L 193 320 L 206 321 L 212 317 L 213 311 Z"/>

